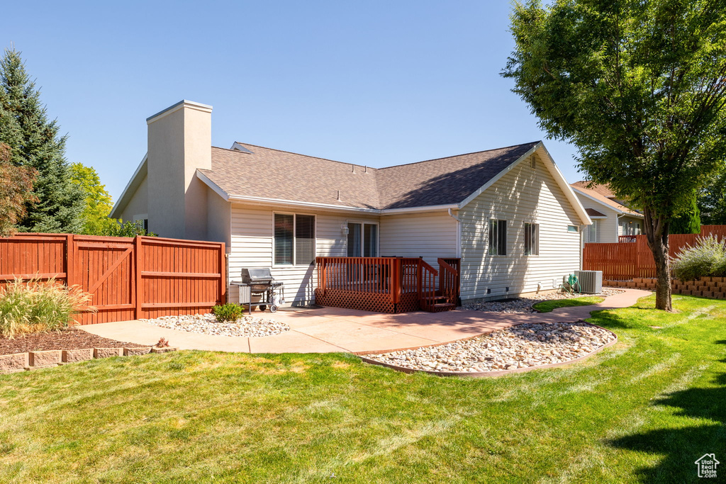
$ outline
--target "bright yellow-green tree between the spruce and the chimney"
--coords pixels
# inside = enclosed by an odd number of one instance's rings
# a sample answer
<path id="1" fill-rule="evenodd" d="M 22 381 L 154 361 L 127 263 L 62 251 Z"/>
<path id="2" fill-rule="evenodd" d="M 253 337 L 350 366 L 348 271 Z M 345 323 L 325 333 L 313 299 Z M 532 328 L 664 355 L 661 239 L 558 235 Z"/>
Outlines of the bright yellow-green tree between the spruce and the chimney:
<path id="1" fill-rule="evenodd" d="M 108 218 L 113 202 L 106 186 L 101 184 L 97 171 L 92 166 L 73 163 L 70 165 L 70 173 L 73 183 L 86 194 L 81 212 L 81 234 L 109 235 L 118 226 L 118 222 L 114 218 Z"/>

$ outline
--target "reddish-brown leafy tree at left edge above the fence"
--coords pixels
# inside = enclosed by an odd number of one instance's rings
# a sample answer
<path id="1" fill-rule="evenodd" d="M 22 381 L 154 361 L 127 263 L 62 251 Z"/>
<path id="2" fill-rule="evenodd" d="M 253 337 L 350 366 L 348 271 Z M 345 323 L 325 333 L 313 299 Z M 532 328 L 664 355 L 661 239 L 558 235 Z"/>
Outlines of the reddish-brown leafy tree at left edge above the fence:
<path id="1" fill-rule="evenodd" d="M 15 224 L 25 216 L 25 205 L 36 202 L 36 171 L 10 163 L 10 153 L 10 147 L 0 143 L 0 237 L 15 234 Z"/>

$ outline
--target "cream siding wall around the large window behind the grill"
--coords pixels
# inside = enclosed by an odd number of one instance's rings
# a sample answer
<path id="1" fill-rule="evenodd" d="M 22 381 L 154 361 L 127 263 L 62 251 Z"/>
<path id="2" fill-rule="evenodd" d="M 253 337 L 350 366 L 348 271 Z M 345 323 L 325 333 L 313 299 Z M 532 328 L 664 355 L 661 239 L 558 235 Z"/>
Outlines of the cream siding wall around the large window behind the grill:
<path id="1" fill-rule="evenodd" d="M 271 267 L 275 279 L 285 283 L 287 303 L 308 303 L 313 300 L 317 284 L 314 264 L 303 266 L 274 266 L 273 213 L 287 210 L 264 208 L 256 205 L 232 204 L 232 242 L 229 253 L 229 280 L 239 281 L 244 267 Z M 346 236 L 341 226 L 349 215 L 308 211 L 315 216 L 315 254 L 318 256 L 346 256 Z M 378 217 L 356 216 L 356 220 L 378 222 Z M 229 287 L 229 300 L 238 298 L 237 287 Z"/>

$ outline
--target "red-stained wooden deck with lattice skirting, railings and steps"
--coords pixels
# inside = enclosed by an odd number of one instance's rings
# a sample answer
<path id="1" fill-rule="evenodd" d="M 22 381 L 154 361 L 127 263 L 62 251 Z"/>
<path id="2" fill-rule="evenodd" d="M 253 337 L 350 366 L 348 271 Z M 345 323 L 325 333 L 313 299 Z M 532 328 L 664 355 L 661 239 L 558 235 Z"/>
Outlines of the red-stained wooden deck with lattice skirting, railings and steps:
<path id="1" fill-rule="evenodd" d="M 406 313 L 449 311 L 459 298 L 460 259 L 318 257 L 315 301 L 336 308 Z"/>

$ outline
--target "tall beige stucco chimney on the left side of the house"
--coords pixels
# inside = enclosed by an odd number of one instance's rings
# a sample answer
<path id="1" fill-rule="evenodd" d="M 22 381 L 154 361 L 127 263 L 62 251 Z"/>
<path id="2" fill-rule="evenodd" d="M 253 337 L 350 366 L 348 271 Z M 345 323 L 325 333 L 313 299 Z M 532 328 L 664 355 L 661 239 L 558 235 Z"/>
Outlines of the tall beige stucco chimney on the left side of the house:
<path id="1" fill-rule="evenodd" d="M 204 239 L 206 187 L 197 168 L 212 168 L 212 107 L 180 101 L 147 118 L 149 227 L 161 237 Z"/>

